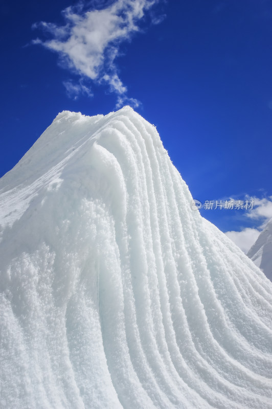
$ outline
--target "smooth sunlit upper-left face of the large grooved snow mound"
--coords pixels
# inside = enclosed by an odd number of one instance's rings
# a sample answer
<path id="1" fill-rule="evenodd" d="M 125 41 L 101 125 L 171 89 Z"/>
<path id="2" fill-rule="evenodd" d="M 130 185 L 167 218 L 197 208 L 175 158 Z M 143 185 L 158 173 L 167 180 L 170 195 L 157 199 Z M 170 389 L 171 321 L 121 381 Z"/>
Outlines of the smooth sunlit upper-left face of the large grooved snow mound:
<path id="1" fill-rule="evenodd" d="M 92 149 L 103 129 L 129 115 L 141 118 L 130 106 L 106 116 L 60 112 L 18 164 L 0 179 L 2 230 L 21 217 L 40 190 L 54 186 L 55 181 L 59 185 L 60 175 L 69 172 L 69 166 L 75 162 L 79 166 L 79 158 Z"/>

